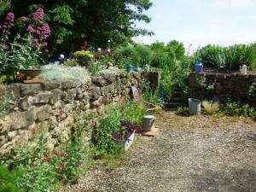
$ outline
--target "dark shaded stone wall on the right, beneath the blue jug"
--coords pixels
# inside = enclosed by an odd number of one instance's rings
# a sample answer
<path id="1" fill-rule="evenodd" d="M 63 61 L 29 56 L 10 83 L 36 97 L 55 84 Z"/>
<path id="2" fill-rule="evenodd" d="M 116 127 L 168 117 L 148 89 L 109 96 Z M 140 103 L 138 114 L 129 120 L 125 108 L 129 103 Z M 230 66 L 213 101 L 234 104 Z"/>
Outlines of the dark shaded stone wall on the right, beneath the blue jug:
<path id="1" fill-rule="evenodd" d="M 256 104 L 256 74 L 190 73 L 189 97 Z"/>

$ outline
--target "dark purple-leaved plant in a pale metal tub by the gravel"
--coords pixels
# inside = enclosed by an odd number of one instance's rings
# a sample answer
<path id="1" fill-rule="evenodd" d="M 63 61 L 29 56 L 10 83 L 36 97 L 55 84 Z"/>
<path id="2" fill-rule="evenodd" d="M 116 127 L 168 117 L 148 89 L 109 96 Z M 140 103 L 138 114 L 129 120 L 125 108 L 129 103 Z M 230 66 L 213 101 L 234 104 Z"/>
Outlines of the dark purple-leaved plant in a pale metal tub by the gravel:
<path id="1" fill-rule="evenodd" d="M 134 142 L 135 132 L 141 132 L 141 126 L 132 120 L 121 120 L 121 129 L 113 133 L 113 139 L 126 151 Z"/>

